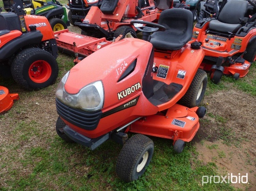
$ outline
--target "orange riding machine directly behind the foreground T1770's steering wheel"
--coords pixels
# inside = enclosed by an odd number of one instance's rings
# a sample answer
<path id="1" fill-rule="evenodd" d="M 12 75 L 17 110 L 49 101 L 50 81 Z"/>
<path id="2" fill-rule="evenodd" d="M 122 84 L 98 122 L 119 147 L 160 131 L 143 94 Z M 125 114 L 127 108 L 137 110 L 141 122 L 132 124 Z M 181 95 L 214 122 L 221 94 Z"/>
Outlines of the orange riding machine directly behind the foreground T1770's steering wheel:
<path id="1" fill-rule="evenodd" d="M 88 36 L 118 37 L 120 34 L 136 37 L 132 19 L 154 21 L 157 19 L 154 0 L 103 0 L 101 7 L 92 6 L 82 23 L 76 22 L 82 34 Z"/>

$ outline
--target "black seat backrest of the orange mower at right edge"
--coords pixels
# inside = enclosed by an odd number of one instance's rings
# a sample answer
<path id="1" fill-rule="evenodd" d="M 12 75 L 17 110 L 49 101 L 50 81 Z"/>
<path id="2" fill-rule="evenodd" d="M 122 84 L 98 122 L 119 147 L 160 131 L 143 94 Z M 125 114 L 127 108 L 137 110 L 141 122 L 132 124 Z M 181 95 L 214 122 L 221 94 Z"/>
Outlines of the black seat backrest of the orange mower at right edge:
<path id="1" fill-rule="evenodd" d="M 247 1 L 245 0 L 229 0 L 218 16 L 218 20 L 222 23 L 239 24 L 240 19 L 244 18 L 247 12 Z"/>

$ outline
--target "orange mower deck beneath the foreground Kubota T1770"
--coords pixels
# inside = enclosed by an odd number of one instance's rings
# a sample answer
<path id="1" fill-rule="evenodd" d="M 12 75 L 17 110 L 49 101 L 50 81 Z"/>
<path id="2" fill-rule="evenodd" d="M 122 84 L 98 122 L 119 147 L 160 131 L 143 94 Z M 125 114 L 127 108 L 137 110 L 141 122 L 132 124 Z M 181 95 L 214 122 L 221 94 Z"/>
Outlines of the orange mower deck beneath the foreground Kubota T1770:
<path id="1" fill-rule="evenodd" d="M 135 121 L 126 129 L 125 133 L 132 132 L 173 139 L 173 143 L 177 139 L 189 142 L 194 138 L 200 126 L 199 118 L 195 113 L 197 108 L 187 108 L 175 104 L 168 109 L 166 115 L 159 113 Z M 156 123 L 158 124 L 157 128 L 155 127 Z"/>

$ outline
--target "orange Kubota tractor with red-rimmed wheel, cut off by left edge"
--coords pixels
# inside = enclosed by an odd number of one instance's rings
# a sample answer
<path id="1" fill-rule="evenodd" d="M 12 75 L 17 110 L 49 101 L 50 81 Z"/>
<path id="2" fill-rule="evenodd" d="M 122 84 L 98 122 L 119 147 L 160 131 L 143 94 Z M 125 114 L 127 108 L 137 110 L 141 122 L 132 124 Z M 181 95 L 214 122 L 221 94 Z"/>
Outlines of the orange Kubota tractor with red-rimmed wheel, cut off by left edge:
<path id="1" fill-rule="evenodd" d="M 58 76 L 57 44 L 48 20 L 26 15 L 20 0 L 15 13 L 0 13 L 0 64 L 10 67 L 13 79 L 26 89 L 40 89 Z"/>

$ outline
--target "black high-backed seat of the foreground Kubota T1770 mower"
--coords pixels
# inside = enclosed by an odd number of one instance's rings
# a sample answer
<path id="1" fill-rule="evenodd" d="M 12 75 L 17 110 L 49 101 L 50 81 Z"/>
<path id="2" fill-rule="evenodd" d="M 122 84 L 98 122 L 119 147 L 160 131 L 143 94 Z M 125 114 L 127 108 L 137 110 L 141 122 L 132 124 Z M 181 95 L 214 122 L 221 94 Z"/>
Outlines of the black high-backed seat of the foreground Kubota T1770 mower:
<path id="1" fill-rule="evenodd" d="M 166 31 L 154 32 L 150 42 L 157 49 L 179 50 L 192 38 L 193 13 L 187 9 L 166 9 L 160 14 L 158 24 Z"/>

